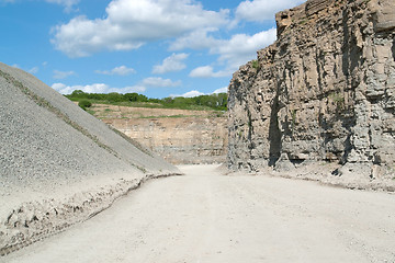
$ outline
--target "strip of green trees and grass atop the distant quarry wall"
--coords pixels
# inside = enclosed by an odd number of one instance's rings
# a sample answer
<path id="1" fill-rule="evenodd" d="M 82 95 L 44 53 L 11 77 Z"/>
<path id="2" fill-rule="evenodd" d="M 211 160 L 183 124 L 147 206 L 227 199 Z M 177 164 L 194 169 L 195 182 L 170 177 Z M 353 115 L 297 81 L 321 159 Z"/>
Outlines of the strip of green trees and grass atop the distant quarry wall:
<path id="1" fill-rule="evenodd" d="M 81 90 L 76 90 L 71 94 L 66 95 L 71 101 L 88 101 L 98 104 L 111 104 L 121 106 L 135 107 L 159 107 L 159 108 L 181 108 L 181 110 L 227 110 L 227 94 L 218 93 L 211 95 L 200 95 L 194 98 L 165 98 L 165 99 L 148 99 L 138 93 L 120 94 L 112 92 L 104 93 L 86 93 Z"/>

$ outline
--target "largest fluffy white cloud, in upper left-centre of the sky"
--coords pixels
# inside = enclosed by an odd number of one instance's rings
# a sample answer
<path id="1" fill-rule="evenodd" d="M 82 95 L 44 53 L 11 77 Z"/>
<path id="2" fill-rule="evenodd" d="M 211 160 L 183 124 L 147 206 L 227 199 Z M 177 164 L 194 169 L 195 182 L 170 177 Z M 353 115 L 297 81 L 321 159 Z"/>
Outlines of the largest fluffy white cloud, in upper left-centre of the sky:
<path id="1" fill-rule="evenodd" d="M 113 0 L 104 19 L 72 19 L 53 28 L 52 43 L 70 57 L 103 49 L 131 50 L 147 42 L 179 37 L 228 23 L 228 10 L 204 10 L 191 0 Z"/>

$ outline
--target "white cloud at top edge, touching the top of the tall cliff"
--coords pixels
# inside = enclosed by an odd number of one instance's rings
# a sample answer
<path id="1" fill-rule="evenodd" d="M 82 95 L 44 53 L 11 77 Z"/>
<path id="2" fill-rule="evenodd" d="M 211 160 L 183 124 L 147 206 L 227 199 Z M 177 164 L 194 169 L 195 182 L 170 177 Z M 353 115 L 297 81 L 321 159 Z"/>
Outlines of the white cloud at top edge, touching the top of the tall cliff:
<path id="1" fill-rule="evenodd" d="M 293 8 L 305 0 L 247 0 L 240 2 L 236 9 L 237 20 L 262 22 L 273 20 L 279 11 Z"/>

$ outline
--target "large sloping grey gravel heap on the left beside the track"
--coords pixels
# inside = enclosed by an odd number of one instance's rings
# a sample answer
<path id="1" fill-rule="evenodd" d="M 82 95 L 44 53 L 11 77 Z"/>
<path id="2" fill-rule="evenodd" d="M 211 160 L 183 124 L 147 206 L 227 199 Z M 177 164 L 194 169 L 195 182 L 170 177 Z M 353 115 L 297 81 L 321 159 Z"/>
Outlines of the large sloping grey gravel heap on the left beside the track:
<path id="1" fill-rule="evenodd" d="M 0 254 L 179 170 L 45 83 L 0 64 Z"/>

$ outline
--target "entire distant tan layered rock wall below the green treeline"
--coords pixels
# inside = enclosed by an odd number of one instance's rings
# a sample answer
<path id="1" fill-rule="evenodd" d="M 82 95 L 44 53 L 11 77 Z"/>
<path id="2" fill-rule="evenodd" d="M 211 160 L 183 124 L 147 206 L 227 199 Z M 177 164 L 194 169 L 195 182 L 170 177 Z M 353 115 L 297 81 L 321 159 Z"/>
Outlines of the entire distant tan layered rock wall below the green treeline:
<path id="1" fill-rule="evenodd" d="M 173 164 L 224 163 L 227 118 L 215 111 L 93 105 L 94 115 Z"/>

